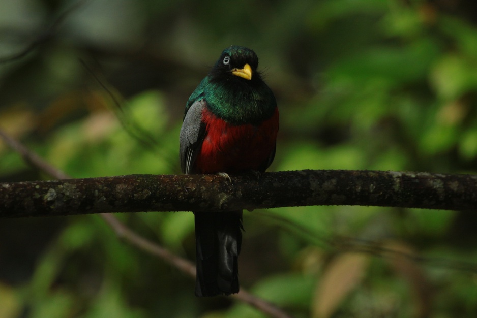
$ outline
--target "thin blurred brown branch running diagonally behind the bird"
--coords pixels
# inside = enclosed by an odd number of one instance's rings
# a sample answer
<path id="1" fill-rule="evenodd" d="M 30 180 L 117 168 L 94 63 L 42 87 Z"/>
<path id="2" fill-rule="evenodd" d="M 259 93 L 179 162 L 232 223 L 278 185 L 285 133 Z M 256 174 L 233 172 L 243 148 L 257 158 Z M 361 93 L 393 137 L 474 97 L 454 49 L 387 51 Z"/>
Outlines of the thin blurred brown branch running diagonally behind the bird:
<path id="1" fill-rule="evenodd" d="M 27 161 L 32 166 L 58 179 L 69 178 L 67 174 L 63 173 L 61 170 L 58 170 L 55 167 L 43 161 L 33 151 L 29 150 L 20 142 L 8 136 L 1 129 L 0 129 L 0 138 L 3 139 L 5 143 L 9 145 L 12 149 L 20 153 L 22 157 L 24 158 L 24 160 Z M 0 188 L 2 187 L 3 186 L 0 186 Z M 100 216 L 105 220 L 105 222 L 111 227 L 111 229 L 116 233 L 118 237 L 125 239 L 126 241 L 136 246 L 137 248 L 162 259 L 163 261 L 169 263 L 170 265 L 176 267 L 177 269 L 181 270 L 185 274 L 195 279 L 195 276 L 196 276 L 195 265 L 189 262 L 188 260 L 178 257 L 174 255 L 174 253 L 171 253 L 166 248 L 160 246 L 159 244 L 154 243 L 140 236 L 136 232 L 129 229 L 126 225 L 124 225 L 120 220 L 118 220 L 111 213 L 101 213 Z M 274 304 L 264 299 L 253 296 L 252 294 L 245 291 L 243 288 L 241 289 L 240 293 L 234 294 L 231 297 L 241 300 L 252 307 L 255 307 L 257 310 L 260 310 L 261 312 L 263 312 L 266 315 L 269 315 L 270 317 L 292 318 L 292 316 L 288 315 L 281 308 L 275 306 Z"/>

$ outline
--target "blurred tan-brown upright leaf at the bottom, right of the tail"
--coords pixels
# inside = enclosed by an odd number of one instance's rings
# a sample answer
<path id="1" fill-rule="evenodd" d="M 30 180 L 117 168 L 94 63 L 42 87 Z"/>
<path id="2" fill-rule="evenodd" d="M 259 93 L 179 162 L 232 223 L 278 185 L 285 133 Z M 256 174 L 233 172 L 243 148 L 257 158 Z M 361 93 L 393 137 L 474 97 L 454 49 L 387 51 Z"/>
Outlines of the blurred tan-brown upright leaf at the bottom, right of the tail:
<path id="1" fill-rule="evenodd" d="M 359 284 L 365 275 L 369 256 L 345 253 L 336 257 L 326 268 L 319 281 L 314 301 L 313 317 L 331 317 L 343 299 Z"/>

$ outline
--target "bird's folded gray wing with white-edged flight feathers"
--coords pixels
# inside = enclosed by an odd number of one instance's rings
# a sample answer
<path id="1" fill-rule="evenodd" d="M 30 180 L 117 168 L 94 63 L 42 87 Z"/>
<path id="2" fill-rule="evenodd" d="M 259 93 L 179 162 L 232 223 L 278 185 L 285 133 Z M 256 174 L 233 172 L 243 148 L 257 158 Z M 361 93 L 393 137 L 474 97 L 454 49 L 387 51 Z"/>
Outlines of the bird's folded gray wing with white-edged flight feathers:
<path id="1" fill-rule="evenodd" d="M 205 137 L 205 124 L 202 122 L 202 111 L 205 105 L 206 102 L 203 99 L 195 101 L 184 116 L 179 136 L 179 157 L 181 170 L 185 174 L 193 173 L 192 167 Z"/>

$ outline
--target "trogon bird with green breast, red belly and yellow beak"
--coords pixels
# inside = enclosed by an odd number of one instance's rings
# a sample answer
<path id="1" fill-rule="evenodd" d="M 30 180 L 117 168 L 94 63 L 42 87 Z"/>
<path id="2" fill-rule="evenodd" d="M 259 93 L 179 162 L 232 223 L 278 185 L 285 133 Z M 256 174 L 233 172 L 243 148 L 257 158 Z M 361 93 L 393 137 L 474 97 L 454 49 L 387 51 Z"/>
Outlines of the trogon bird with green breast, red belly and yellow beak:
<path id="1" fill-rule="evenodd" d="M 258 57 L 226 48 L 186 104 L 180 134 L 185 174 L 262 173 L 275 156 L 278 109 Z M 242 211 L 195 211 L 196 296 L 238 293 Z"/>

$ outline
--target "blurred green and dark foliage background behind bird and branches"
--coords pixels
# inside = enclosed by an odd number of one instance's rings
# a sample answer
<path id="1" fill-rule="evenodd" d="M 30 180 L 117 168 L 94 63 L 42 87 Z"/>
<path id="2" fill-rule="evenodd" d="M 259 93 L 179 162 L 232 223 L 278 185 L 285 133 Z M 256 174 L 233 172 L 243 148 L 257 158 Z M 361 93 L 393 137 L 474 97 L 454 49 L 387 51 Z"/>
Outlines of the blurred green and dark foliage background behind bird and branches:
<path id="1" fill-rule="evenodd" d="M 73 177 L 180 173 L 185 103 L 236 44 L 257 52 L 277 97 L 270 170 L 472 174 L 476 24 L 464 0 L 0 0 L 0 127 Z M 47 177 L 0 143 L 0 181 Z M 117 216 L 194 260 L 191 213 Z M 241 285 L 296 317 L 474 317 L 476 222 L 475 211 L 245 212 Z M 2 318 L 263 316 L 193 291 L 97 215 L 0 221 Z"/>

